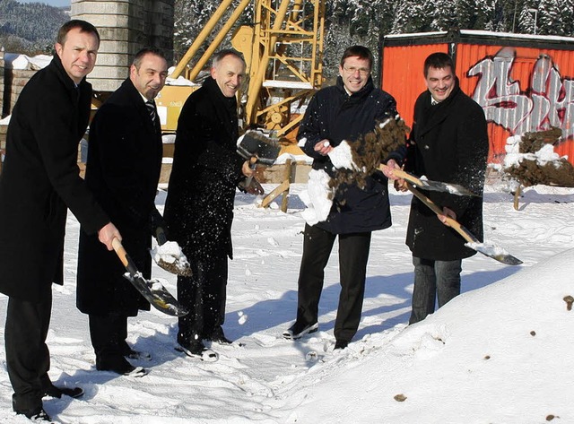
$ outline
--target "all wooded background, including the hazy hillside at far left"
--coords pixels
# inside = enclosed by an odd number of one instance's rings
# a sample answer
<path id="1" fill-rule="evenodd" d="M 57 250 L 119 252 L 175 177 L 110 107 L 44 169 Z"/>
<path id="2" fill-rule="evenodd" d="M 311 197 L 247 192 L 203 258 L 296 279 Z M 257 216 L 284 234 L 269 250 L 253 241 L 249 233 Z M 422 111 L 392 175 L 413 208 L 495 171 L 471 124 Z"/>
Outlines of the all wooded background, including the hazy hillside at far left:
<path id="1" fill-rule="evenodd" d="M 219 4 L 221 0 L 175 1 L 177 59 L 185 54 Z M 12 53 L 50 54 L 54 34 L 67 19 L 64 11 L 47 4 L 0 0 L 0 48 Z M 253 4 L 238 25 L 252 21 Z M 351 44 L 378 51 L 379 39 L 387 34 L 452 28 L 572 37 L 574 0 L 328 0 L 326 69 L 332 69 L 343 49 Z"/>

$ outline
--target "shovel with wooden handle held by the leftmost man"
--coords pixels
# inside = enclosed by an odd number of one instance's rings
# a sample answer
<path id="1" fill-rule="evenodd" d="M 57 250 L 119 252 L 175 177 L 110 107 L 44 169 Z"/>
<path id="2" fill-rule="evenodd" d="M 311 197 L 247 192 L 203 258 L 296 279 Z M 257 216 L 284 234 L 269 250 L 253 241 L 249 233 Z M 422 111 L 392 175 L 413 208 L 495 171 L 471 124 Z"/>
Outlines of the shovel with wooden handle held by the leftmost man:
<path id="1" fill-rule="evenodd" d="M 124 275 L 139 291 L 142 296 L 150 302 L 152 307 L 170 316 L 185 316 L 188 311 L 182 307 L 178 300 L 176 300 L 171 293 L 163 287 L 158 280 L 145 280 L 142 273 L 137 270 L 132 258 L 127 255 L 126 249 L 122 246 L 118 238 L 114 238 L 111 242 L 117 257 L 122 261 L 126 267 L 127 273 Z"/>

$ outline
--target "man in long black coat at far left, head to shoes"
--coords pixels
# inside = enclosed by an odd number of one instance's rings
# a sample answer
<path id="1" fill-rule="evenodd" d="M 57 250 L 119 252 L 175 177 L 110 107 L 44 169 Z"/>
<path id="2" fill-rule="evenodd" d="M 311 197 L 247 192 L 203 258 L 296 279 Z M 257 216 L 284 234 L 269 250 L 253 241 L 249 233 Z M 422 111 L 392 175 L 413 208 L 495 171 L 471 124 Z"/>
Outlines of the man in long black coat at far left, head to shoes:
<path id="1" fill-rule="evenodd" d="M 30 419 L 49 420 L 44 394 L 83 393 L 58 389 L 48 376 L 51 285 L 63 283 L 67 208 L 109 250 L 111 240 L 121 238 L 77 166 L 78 143 L 90 117 L 91 85 L 85 76 L 99 46 L 93 25 L 66 22 L 57 35 L 56 55 L 26 84 L 8 126 L 0 177 L 0 291 L 10 298 L 4 337 L 13 410 Z"/>

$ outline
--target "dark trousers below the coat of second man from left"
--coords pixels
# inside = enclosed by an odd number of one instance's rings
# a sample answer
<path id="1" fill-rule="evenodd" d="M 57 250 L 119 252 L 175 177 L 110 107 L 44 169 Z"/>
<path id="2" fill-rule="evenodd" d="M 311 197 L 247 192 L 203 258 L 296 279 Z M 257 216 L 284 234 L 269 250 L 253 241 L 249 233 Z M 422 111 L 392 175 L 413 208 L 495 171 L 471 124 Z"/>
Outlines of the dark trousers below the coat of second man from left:
<path id="1" fill-rule="evenodd" d="M 123 357 L 128 349 L 127 316 L 122 314 L 90 315 L 91 346 L 96 359 Z"/>

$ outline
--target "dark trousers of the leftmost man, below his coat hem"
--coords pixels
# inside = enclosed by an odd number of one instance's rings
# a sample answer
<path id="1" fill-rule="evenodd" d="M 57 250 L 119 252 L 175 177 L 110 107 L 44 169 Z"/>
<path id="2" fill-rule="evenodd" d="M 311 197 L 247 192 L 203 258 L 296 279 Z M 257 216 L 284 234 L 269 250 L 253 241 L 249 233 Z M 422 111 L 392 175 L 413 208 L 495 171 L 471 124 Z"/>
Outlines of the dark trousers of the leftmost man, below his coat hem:
<path id="1" fill-rule="evenodd" d="M 46 345 L 51 312 L 51 293 L 49 299 L 41 303 L 8 299 L 4 342 L 16 412 L 38 411 L 42 407 L 42 395 L 51 385 L 50 354 Z"/>

